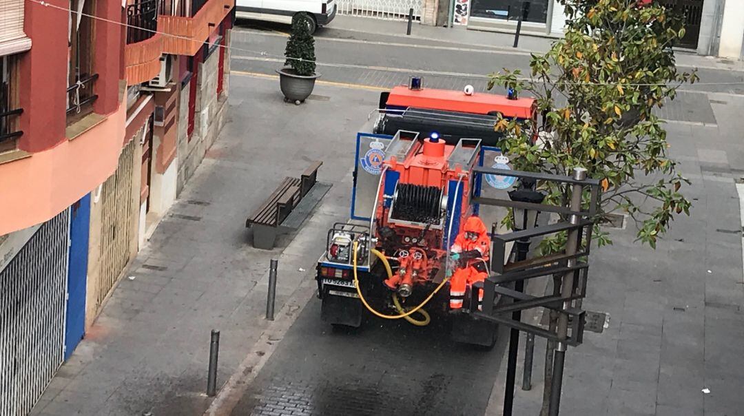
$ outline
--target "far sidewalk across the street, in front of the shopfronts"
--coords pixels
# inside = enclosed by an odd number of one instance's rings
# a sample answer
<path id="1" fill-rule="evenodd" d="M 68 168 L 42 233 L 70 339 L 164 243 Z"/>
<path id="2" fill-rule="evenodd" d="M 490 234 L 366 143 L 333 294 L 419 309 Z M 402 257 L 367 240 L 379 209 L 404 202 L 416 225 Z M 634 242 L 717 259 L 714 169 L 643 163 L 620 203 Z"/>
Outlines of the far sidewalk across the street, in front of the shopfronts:
<path id="1" fill-rule="evenodd" d="M 457 45 L 467 45 L 469 48 L 493 48 L 516 51 L 522 54 L 545 52 L 550 48 L 555 38 L 530 36 L 522 33 L 519 36 L 519 48 L 513 48 L 514 34 L 488 31 L 468 30 L 464 26 L 440 28 L 437 26 L 413 25 L 411 35 L 406 36 L 407 22 L 394 22 L 382 19 L 369 19 L 355 16 L 336 16 L 327 28 L 318 34 L 333 31 L 351 31 L 359 33 L 376 33 L 395 36 L 404 39 L 420 39 L 437 42 L 451 42 Z M 677 64 L 684 67 L 710 68 L 727 71 L 744 71 L 744 62 L 731 61 L 718 57 L 702 57 L 690 51 L 679 51 Z"/>

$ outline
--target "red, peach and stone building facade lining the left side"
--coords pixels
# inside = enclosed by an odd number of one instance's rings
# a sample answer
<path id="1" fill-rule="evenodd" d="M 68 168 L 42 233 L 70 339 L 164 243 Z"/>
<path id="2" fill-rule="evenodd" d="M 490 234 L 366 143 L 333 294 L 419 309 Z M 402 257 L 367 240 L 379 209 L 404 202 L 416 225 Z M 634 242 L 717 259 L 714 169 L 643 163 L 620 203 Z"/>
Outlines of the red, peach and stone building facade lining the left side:
<path id="1" fill-rule="evenodd" d="M 25 415 L 225 124 L 233 1 L 0 1 L 0 414 Z"/>

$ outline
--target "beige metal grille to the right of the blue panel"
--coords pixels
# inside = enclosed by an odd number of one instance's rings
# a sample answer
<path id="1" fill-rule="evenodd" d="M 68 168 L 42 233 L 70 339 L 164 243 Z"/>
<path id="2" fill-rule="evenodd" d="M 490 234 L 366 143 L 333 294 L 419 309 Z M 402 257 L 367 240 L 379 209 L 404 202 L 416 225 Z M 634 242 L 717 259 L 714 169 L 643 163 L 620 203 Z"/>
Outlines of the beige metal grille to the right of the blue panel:
<path id="1" fill-rule="evenodd" d="M 101 190 L 101 258 L 96 310 L 116 284 L 132 257 L 132 164 L 137 141 L 129 141 L 119 156 L 116 172 Z"/>

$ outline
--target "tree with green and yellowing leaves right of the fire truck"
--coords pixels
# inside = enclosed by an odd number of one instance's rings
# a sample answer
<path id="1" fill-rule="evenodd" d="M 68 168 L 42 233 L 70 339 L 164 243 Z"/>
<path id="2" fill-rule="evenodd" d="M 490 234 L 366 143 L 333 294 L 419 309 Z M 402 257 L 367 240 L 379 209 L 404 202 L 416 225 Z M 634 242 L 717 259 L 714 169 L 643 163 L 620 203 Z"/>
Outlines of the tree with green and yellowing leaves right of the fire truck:
<path id="1" fill-rule="evenodd" d="M 667 132 L 654 112 L 675 97 L 679 86 L 697 80 L 694 71 L 681 72 L 675 65 L 672 46 L 684 36 L 683 20 L 655 1 L 559 1 L 568 16 L 565 36 L 547 53 L 533 54 L 528 77 L 504 69 L 489 81 L 489 89 L 501 85 L 533 95 L 542 129 L 550 134 L 533 143 L 528 124 L 502 118 L 496 124 L 504 132 L 499 145 L 515 169 L 571 175 L 574 167 L 585 167 L 589 177 L 600 179 L 603 194 L 594 228 L 599 246 L 612 243 L 603 225 L 610 214 L 621 212 L 637 226 L 638 240 L 655 248 L 674 217 L 690 211 L 680 192 L 689 181 L 669 158 Z M 565 186 L 540 186 L 547 194 L 544 203 L 570 200 Z M 588 207 L 588 194 L 583 203 Z M 559 252 L 564 245 L 565 234 L 559 234 L 540 248 Z M 546 364 L 551 356 L 549 345 Z"/>

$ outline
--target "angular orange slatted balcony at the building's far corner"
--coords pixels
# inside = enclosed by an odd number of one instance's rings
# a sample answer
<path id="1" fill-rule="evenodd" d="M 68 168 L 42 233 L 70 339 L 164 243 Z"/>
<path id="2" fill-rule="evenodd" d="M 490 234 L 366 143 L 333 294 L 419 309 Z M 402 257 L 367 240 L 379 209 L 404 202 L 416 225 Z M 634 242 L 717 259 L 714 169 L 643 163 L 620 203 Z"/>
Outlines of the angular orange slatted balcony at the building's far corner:
<path id="1" fill-rule="evenodd" d="M 234 0 L 163 0 L 159 31 L 166 54 L 192 57 L 234 6 Z"/>

